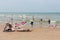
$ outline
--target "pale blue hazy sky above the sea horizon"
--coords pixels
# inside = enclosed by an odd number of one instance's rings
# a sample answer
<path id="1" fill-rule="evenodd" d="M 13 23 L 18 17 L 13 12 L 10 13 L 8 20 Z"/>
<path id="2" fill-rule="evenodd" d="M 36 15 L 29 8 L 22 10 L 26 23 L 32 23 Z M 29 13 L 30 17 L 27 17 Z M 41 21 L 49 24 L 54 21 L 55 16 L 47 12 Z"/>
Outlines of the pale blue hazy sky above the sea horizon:
<path id="1" fill-rule="evenodd" d="M 60 0 L 0 0 L 0 12 L 60 12 Z"/>

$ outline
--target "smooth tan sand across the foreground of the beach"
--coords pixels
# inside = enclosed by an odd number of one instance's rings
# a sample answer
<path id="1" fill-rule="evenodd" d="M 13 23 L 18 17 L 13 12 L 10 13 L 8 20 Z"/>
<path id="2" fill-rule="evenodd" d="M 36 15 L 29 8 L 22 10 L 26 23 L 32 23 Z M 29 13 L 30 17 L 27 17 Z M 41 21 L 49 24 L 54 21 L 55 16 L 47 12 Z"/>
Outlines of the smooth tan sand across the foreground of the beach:
<path id="1" fill-rule="evenodd" d="M 0 27 L 0 40 L 60 40 L 60 29 L 34 28 L 32 32 L 3 32 Z"/>

